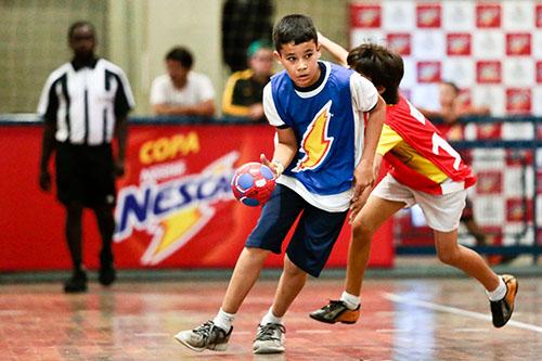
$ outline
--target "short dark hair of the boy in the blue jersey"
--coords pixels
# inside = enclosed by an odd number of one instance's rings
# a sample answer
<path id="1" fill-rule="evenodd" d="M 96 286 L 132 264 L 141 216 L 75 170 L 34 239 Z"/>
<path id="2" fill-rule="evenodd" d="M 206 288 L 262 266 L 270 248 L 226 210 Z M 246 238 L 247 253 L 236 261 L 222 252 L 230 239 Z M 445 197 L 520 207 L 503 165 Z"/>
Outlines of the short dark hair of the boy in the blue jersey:
<path id="1" fill-rule="evenodd" d="M 318 43 L 318 33 L 312 18 L 306 15 L 286 15 L 276 23 L 273 28 L 273 42 L 276 51 L 285 43 L 298 44 L 314 40 Z"/>

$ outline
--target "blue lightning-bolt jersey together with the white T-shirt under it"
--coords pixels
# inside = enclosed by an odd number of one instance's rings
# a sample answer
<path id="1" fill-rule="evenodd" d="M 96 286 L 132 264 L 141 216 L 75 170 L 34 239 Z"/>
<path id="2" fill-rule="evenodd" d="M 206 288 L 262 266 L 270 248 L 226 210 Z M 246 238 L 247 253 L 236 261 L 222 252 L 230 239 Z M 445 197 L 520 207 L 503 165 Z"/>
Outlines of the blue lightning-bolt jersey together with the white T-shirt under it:
<path id="1" fill-rule="evenodd" d="M 353 169 L 361 157 L 360 111 L 369 111 L 367 104 L 375 104 L 377 93 L 350 69 L 328 62 L 319 65 L 321 77 L 309 89 L 296 88 L 285 70 L 272 77 L 263 104 L 270 124 L 292 128 L 299 142 L 296 156 L 278 182 L 318 207 L 339 211 L 348 208 Z M 354 94 L 353 88 L 359 92 Z M 354 101 L 354 96 L 360 98 Z"/>

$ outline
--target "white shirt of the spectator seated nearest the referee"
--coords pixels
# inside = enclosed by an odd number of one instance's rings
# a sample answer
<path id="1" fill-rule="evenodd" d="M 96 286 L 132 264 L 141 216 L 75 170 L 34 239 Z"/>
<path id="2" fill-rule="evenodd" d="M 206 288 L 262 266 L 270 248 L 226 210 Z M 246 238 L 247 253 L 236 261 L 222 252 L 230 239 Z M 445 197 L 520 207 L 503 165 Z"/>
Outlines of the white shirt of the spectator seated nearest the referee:
<path id="1" fill-rule="evenodd" d="M 186 83 L 177 89 L 169 75 L 160 75 L 151 87 L 151 104 L 195 105 L 215 99 L 215 88 L 210 79 L 203 74 L 190 72 Z"/>

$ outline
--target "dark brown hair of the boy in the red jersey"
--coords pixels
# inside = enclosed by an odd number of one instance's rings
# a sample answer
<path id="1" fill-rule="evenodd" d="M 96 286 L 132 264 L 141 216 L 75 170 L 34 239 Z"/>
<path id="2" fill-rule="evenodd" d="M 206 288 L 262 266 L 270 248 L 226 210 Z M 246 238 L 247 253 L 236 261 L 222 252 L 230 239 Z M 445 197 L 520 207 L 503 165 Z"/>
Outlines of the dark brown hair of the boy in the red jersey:
<path id="1" fill-rule="evenodd" d="M 373 85 L 384 87 L 382 98 L 388 104 L 399 102 L 399 83 L 404 74 L 401 55 L 375 43 L 364 43 L 350 51 L 348 65 L 371 79 Z"/>

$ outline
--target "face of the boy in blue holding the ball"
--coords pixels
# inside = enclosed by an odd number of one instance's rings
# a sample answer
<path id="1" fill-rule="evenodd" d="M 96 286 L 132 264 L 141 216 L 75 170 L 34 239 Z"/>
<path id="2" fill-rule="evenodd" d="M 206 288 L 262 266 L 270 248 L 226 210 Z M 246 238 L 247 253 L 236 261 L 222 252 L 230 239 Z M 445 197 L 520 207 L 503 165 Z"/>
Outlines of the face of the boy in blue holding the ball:
<path id="1" fill-rule="evenodd" d="M 274 52 L 274 56 L 284 66 L 292 81 L 300 88 L 312 86 L 320 77 L 320 47 L 313 40 L 283 44 L 280 52 Z"/>

